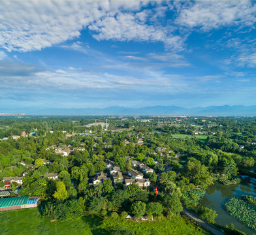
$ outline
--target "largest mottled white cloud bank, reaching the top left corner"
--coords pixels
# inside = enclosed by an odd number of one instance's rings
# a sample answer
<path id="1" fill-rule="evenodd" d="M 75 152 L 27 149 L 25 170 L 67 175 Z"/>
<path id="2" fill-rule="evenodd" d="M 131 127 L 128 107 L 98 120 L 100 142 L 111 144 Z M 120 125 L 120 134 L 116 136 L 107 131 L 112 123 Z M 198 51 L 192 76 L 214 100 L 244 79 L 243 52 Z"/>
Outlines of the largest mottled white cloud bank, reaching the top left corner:
<path id="1" fill-rule="evenodd" d="M 172 35 L 172 26 L 161 27 L 157 21 L 165 16 L 167 7 L 155 4 L 153 10 L 142 10 L 148 4 L 148 1 L 3 1 L 0 47 L 8 52 L 41 50 L 76 39 L 82 29 L 89 27 L 97 40 L 161 41 L 168 50 L 182 50 L 182 37 Z M 152 17 L 155 20 L 148 24 Z"/>

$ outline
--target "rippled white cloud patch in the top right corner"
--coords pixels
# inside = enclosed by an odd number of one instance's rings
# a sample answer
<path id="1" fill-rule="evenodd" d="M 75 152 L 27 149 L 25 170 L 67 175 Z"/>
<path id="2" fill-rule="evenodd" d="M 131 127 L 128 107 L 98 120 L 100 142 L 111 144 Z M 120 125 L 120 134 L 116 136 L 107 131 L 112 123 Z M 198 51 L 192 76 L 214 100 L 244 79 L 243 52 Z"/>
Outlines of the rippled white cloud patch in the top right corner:
<path id="1" fill-rule="evenodd" d="M 256 22 L 256 5 L 252 1 L 195 1 L 179 5 L 176 24 L 204 31 L 240 25 L 251 27 Z"/>

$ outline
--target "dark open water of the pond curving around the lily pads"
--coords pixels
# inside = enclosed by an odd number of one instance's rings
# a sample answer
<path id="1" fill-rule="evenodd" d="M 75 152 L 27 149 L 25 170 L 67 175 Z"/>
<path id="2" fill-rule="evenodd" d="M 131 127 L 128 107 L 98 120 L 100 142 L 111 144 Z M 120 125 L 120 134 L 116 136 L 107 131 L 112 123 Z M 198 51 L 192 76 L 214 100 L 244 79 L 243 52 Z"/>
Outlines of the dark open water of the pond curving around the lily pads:
<path id="1" fill-rule="evenodd" d="M 256 231 L 246 227 L 246 225 L 243 225 L 225 211 L 224 203 L 227 202 L 228 198 L 232 195 L 256 196 L 256 184 L 242 181 L 238 185 L 223 185 L 216 182 L 214 185 L 208 187 L 206 195 L 201 200 L 201 204 L 217 212 L 216 224 L 230 225 L 232 223 L 235 228 L 248 235 L 256 234 Z"/>

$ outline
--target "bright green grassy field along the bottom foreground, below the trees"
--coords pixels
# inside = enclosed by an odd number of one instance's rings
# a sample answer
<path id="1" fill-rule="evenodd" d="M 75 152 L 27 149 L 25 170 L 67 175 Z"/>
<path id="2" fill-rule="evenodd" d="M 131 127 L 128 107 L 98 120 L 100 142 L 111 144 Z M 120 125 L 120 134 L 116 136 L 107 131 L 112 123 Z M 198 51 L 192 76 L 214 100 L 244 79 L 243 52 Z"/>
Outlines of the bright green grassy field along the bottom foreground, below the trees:
<path id="1" fill-rule="evenodd" d="M 136 234 L 210 234 L 197 228 L 183 217 L 174 221 L 164 219 L 161 222 L 136 223 L 135 221 L 114 221 L 112 219 L 101 220 L 98 217 L 85 216 L 72 222 L 46 221 L 37 208 L 0 212 L 1 235 L 101 235 L 111 234 L 114 230 L 129 230 Z"/>

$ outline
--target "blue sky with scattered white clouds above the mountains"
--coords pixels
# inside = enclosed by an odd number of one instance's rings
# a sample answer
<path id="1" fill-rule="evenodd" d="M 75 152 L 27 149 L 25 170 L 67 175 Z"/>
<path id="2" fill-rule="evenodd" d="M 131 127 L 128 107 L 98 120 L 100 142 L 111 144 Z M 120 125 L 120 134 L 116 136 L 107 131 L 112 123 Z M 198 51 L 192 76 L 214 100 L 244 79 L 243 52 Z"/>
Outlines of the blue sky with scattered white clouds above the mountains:
<path id="1" fill-rule="evenodd" d="M 1 1 L 0 112 L 256 104 L 255 1 Z"/>

